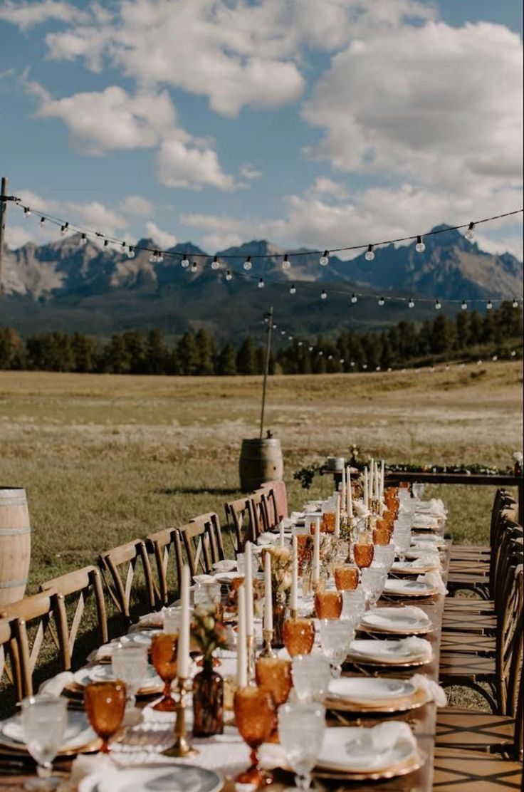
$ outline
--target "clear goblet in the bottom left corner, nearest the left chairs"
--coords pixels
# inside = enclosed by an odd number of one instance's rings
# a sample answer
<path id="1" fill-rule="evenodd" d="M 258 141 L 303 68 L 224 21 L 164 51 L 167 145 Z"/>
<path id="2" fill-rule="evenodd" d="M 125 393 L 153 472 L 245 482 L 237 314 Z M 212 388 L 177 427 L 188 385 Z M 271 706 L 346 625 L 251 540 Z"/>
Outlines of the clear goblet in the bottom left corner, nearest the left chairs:
<path id="1" fill-rule="evenodd" d="M 28 752 L 36 761 L 37 779 L 29 790 L 54 790 L 61 779 L 53 778 L 53 760 L 63 743 L 67 724 L 67 699 L 34 695 L 21 703 L 21 723 Z"/>

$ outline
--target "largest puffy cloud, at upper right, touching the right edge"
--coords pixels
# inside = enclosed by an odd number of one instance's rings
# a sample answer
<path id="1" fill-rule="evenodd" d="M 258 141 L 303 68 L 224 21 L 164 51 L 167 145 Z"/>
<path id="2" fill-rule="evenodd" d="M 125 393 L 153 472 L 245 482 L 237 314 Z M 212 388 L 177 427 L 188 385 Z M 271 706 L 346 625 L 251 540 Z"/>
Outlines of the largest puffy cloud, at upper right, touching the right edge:
<path id="1" fill-rule="evenodd" d="M 397 173 L 469 194 L 518 184 L 522 41 L 500 25 L 382 29 L 335 55 L 303 109 L 341 171 Z"/>

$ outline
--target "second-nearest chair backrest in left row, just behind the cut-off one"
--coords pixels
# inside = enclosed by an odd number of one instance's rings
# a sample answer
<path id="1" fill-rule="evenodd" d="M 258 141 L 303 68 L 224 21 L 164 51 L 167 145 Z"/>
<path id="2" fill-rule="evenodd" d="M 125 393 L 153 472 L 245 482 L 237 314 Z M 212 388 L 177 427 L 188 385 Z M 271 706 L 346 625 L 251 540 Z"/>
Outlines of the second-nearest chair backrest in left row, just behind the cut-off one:
<path id="1" fill-rule="evenodd" d="M 0 617 L 9 620 L 12 638 L 16 642 L 22 698 L 33 693 L 37 663 L 42 681 L 70 668 L 67 635 L 55 620 L 49 592 L 26 596 L 4 606 Z"/>

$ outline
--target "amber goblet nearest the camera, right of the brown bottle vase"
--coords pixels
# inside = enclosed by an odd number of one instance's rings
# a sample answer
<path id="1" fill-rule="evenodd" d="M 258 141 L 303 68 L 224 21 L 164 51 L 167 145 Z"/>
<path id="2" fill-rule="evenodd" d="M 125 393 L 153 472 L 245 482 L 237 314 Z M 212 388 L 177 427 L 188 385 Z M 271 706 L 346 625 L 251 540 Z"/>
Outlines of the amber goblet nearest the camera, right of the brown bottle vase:
<path id="1" fill-rule="evenodd" d="M 237 775 L 235 781 L 264 786 L 271 782 L 271 776 L 261 770 L 257 751 L 275 729 L 276 710 L 271 693 L 264 687 L 241 687 L 234 695 L 233 709 L 237 729 L 251 748 L 251 766 Z"/>

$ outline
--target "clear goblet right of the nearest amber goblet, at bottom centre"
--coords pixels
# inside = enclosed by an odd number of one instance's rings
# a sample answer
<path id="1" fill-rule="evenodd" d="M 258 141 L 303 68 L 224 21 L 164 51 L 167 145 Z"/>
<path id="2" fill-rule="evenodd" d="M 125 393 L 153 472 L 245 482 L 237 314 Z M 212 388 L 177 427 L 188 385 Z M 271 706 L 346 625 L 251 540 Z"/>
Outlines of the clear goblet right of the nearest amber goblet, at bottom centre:
<path id="1" fill-rule="evenodd" d="M 279 741 L 298 789 L 309 790 L 311 771 L 321 751 L 325 709 L 318 704 L 283 704 L 279 708 Z"/>

